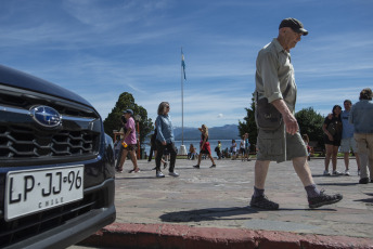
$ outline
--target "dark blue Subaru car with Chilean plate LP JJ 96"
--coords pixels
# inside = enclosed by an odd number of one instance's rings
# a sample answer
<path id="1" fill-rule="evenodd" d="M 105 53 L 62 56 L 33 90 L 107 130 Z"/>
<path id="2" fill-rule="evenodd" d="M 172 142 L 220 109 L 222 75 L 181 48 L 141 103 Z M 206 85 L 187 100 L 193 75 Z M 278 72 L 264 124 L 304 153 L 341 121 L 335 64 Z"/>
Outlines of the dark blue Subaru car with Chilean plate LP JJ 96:
<path id="1" fill-rule="evenodd" d="M 114 222 L 113 152 L 85 99 L 0 66 L 0 248 L 65 248 Z"/>

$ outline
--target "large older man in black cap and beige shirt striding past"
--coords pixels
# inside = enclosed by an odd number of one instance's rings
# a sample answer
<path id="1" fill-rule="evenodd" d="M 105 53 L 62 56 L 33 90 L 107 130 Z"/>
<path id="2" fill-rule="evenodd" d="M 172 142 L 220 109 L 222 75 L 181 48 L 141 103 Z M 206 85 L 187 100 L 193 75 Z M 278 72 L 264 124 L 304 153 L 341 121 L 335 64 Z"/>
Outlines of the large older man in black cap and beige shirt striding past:
<path id="1" fill-rule="evenodd" d="M 254 195 L 250 200 L 253 208 L 279 209 L 279 204 L 269 200 L 265 195 L 265 183 L 270 161 L 293 161 L 294 169 L 307 192 L 310 208 L 334 204 L 343 198 L 339 194 L 326 195 L 314 185 L 307 162 L 307 148 L 294 116 L 297 88 L 290 51 L 297 45 L 303 36 L 307 35 L 308 31 L 298 19 L 285 18 L 279 26 L 278 38 L 262 48 L 257 56 L 255 75 L 257 108 L 255 117 L 258 127 L 258 152 L 255 163 Z M 262 113 L 258 113 L 259 104 L 263 105 L 263 101 L 274 106 L 269 116 L 265 117 Z M 265 104 L 266 108 L 271 105 Z M 267 126 L 268 122 L 262 121 L 263 118 L 271 118 L 272 114 L 279 117 L 278 113 L 281 114 L 282 118 L 278 118 L 274 126 Z M 262 119 L 260 120 L 260 118 Z M 271 118 L 268 121 L 272 122 L 272 120 Z"/>

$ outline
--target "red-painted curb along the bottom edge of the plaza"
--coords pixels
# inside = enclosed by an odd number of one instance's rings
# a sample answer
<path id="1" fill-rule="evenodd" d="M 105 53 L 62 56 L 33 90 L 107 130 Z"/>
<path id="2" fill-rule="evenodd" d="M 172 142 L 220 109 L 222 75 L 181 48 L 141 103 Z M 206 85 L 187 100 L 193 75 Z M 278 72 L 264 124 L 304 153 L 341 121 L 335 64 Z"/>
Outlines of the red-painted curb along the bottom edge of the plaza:
<path id="1" fill-rule="evenodd" d="M 113 223 L 80 243 L 117 248 L 373 249 L 373 239 L 177 224 Z"/>

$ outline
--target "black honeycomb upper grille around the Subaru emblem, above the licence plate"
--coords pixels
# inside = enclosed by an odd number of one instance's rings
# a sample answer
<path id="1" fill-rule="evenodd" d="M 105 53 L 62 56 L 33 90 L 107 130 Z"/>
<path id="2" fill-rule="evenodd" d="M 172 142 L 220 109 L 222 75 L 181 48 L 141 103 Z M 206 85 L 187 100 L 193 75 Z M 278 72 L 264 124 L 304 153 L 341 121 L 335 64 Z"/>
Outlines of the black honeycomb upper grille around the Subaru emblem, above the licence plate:
<path id="1" fill-rule="evenodd" d="M 29 165 L 29 159 L 38 165 L 77 161 L 79 157 L 83 160 L 99 153 L 101 119 L 92 108 L 41 93 L 1 88 L 4 87 L 0 84 L 0 160 L 3 163 Z M 35 106 L 57 110 L 61 124 L 40 126 L 30 112 Z"/>

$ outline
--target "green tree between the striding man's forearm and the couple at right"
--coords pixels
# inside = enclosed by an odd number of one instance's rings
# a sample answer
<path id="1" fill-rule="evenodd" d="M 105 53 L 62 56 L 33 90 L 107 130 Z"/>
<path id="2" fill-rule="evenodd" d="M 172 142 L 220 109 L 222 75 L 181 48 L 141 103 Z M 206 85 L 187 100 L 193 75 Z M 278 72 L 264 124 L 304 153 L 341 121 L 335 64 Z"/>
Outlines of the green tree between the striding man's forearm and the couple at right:
<path id="1" fill-rule="evenodd" d="M 324 117 L 316 113 L 312 107 L 303 108 L 295 114 L 300 134 L 307 134 L 310 141 L 317 141 L 318 147 L 324 148 L 322 124 Z"/>

